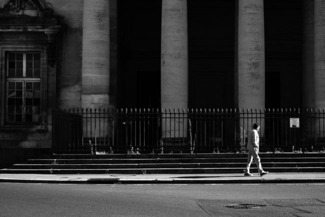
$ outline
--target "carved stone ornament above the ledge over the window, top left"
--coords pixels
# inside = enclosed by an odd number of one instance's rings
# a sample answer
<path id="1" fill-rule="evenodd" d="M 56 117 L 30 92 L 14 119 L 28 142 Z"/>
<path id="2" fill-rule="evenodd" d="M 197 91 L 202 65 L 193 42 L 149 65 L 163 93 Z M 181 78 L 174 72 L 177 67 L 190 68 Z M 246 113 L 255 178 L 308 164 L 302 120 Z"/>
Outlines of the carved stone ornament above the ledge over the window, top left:
<path id="1" fill-rule="evenodd" d="M 51 17 L 51 15 L 52 10 L 45 0 L 8 0 L 3 9 L 0 9 L 0 17 Z"/>

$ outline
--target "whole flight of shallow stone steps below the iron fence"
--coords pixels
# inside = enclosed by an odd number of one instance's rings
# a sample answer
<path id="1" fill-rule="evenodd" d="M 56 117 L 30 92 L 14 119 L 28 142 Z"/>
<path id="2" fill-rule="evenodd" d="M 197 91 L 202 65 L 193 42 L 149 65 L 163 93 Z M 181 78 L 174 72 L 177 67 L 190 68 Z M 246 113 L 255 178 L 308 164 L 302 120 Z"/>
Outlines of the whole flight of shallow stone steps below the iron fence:
<path id="1" fill-rule="evenodd" d="M 325 172 L 325 153 L 260 153 L 269 172 Z M 199 174 L 242 173 L 245 153 L 217 154 L 51 154 L 1 169 L 0 173 Z M 252 162 L 250 172 L 257 173 Z"/>

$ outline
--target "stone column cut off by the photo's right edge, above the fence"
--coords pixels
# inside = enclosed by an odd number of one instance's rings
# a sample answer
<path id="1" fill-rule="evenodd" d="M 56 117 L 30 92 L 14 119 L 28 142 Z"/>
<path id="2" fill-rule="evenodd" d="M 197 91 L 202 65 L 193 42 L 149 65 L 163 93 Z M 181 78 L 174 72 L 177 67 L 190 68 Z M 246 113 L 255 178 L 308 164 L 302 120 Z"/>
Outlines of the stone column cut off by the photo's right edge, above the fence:
<path id="1" fill-rule="evenodd" d="M 325 108 L 325 0 L 314 0 L 315 107 Z"/>

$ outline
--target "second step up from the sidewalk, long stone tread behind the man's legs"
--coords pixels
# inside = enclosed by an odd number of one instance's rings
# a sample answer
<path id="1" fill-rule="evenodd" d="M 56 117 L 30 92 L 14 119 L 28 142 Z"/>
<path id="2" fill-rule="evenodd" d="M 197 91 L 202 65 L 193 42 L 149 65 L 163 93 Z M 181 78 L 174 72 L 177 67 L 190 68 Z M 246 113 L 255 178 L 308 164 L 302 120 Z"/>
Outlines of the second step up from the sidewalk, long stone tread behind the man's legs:
<path id="1" fill-rule="evenodd" d="M 13 169 L 244 168 L 246 163 L 13 164 Z M 263 167 L 325 167 L 325 162 L 262 163 Z M 255 163 L 251 167 L 256 167 Z"/>

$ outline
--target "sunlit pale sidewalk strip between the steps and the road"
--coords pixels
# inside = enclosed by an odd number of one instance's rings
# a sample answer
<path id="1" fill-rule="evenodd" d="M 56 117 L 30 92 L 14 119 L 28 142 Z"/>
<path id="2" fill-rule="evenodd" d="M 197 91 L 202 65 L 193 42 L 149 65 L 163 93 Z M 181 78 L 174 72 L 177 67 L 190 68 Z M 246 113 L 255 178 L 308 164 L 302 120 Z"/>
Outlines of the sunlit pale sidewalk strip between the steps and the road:
<path id="1" fill-rule="evenodd" d="M 325 183 L 323 172 L 229 174 L 0 174 L 0 182 L 71 184 Z"/>

